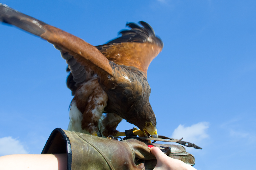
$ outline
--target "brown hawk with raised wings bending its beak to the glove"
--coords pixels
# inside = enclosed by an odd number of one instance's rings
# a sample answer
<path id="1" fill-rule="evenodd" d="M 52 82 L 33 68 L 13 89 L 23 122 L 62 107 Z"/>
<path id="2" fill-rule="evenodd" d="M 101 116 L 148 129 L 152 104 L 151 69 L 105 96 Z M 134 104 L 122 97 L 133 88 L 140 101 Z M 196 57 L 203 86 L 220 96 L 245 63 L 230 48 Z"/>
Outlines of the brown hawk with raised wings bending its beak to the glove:
<path id="1" fill-rule="evenodd" d="M 0 21 L 40 36 L 61 51 L 70 71 L 67 86 L 74 95 L 70 130 L 116 136 L 117 125 L 125 119 L 144 136 L 157 137 L 147 69 L 163 43 L 149 24 L 127 23 L 131 29 L 121 31 L 121 37 L 95 47 L 4 4 L 0 4 Z"/>

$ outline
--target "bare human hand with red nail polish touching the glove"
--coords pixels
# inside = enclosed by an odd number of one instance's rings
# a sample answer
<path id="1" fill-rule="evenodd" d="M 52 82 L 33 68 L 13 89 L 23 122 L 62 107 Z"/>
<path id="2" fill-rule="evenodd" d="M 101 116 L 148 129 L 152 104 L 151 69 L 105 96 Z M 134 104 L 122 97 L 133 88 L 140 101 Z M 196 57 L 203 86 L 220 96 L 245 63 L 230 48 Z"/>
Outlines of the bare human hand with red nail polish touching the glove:
<path id="1" fill-rule="evenodd" d="M 164 154 L 158 147 L 154 147 L 153 145 L 148 145 L 148 149 L 151 151 L 153 155 L 155 155 L 157 164 L 154 170 L 196 170 L 191 165 L 188 165 L 181 160 L 173 159 L 166 154 Z"/>

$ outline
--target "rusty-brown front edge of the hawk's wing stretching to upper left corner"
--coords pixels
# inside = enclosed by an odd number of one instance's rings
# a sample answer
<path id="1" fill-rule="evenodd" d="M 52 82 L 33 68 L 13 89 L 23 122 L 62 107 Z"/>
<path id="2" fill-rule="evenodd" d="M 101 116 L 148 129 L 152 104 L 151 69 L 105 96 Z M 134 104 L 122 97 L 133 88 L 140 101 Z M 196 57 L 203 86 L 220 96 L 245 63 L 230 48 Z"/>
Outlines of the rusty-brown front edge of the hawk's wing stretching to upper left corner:
<path id="1" fill-rule="evenodd" d="M 13 10 L 4 4 L 0 4 L 0 21 L 40 36 L 67 51 L 76 61 L 91 68 L 99 75 L 113 76 L 110 61 L 96 47 L 70 33 Z"/>

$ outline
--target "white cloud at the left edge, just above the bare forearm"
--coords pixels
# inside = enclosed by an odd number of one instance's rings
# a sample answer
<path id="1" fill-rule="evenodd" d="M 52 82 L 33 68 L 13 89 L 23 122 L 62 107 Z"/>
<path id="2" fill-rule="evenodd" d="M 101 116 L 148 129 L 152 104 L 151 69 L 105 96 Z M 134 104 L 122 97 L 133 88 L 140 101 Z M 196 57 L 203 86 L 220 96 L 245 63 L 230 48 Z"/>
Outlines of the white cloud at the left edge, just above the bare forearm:
<path id="1" fill-rule="evenodd" d="M 0 156 L 10 154 L 27 154 L 28 152 L 24 149 L 24 146 L 19 140 L 12 137 L 0 138 Z"/>

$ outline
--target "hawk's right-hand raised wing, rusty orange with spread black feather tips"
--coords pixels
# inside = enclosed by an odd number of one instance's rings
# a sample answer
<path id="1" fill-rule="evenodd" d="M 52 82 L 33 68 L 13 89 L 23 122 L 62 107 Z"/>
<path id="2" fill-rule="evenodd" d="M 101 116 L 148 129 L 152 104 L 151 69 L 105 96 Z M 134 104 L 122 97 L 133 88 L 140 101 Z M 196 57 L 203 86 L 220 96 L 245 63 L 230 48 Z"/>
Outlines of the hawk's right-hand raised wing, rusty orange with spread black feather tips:
<path id="1" fill-rule="evenodd" d="M 132 22 L 127 23 L 131 29 L 121 31 L 121 37 L 96 47 L 110 61 L 133 66 L 147 73 L 151 61 L 161 52 L 163 42 L 149 24 L 144 21 L 139 23 L 143 27 Z"/>

